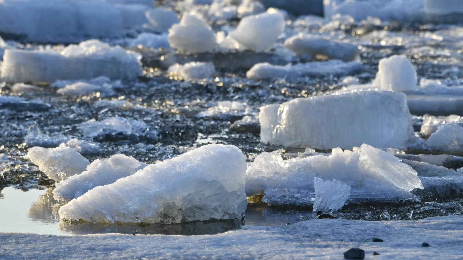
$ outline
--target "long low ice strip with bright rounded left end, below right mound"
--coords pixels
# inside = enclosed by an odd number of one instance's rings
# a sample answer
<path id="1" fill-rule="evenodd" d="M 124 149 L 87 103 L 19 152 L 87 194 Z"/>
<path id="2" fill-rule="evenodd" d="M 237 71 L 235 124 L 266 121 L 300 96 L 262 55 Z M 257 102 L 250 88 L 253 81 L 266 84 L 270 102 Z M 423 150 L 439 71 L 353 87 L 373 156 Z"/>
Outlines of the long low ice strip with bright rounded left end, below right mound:
<path id="1" fill-rule="evenodd" d="M 253 80 L 269 80 L 273 78 L 296 79 L 303 76 L 353 74 L 362 68 L 359 62 L 343 62 L 329 60 L 326 62 L 307 62 L 295 65 L 278 66 L 268 62 L 257 63 L 246 72 L 246 77 Z"/>

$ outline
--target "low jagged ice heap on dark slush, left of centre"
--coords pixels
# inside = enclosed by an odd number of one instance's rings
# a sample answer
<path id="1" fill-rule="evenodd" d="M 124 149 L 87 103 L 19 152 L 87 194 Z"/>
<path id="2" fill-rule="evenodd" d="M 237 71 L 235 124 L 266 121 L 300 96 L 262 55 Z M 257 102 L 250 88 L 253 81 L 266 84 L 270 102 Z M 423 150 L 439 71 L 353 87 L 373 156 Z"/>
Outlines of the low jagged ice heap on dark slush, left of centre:
<path id="1" fill-rule="evenodd" d="M 77 128 L 87 137 L 116 134 L 144 136 L 149 130 L 148 125 L 142 121 L 120 117 L 107 118 L 102 121 L 90 119 L 79 124 Z"/>

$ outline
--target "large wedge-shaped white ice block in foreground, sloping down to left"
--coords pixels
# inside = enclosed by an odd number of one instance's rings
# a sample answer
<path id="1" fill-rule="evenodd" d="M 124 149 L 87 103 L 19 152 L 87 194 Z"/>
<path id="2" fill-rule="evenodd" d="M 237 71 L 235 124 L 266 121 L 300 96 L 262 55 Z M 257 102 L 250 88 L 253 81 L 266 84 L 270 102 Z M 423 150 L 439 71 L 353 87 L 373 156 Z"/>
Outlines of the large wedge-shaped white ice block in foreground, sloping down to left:
<path id="1" fill-rule="evenodd" d="M 241 219 L 246 156 L 208 144 L 98 186 L 59 210 L 61 219 L 92 223 L 184 223 Z"/>

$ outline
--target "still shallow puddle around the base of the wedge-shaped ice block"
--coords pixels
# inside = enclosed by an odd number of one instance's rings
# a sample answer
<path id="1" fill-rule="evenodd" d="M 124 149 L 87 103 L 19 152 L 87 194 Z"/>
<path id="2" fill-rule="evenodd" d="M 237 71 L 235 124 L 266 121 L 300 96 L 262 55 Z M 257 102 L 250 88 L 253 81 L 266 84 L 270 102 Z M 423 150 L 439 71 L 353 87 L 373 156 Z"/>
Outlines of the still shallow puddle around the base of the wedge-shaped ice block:
<path id="1" fill-rule="evenodd" d="M 46 235 L 77 234 L 163 234 L 213 235 L 239 229 L 242 225 L 282 226 L 312 218 L 313 212 L 286 212 L 249 205 L 244 223 L 241 220 L 194 222 L 175 225 L 105 225 L 74 224 L 59 219 L 60 203 L 51 190 L 31 189 L 27 192 L 6 187 L 0 192 L 0 232 L 36 233 Z"/>

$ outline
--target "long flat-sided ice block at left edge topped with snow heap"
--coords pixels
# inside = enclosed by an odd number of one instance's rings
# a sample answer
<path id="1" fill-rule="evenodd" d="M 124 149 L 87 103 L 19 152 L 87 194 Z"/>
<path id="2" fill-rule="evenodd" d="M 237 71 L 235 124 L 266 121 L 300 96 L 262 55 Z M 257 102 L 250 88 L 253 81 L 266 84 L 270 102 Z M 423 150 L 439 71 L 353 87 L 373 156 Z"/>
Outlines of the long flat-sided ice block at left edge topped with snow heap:
<path id="1" fill-rule="evenodd" d="M 19 0 L 21 1 L 21 0 Z M 56 51 L 5 50 L 0 76 L 6 82 L 53 83 L 56 80 L 133 80 L 141 74 L 138 54 L 98 40 Z"/>

